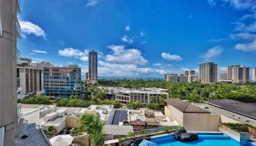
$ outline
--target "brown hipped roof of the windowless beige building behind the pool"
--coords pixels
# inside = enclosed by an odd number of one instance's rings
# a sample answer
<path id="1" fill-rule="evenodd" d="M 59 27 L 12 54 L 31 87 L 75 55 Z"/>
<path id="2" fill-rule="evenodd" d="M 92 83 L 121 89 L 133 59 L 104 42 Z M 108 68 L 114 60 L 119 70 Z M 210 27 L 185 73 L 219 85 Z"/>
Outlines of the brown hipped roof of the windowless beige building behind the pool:
<path id="1" fill-rule="evenodd" d="M 181 112 L 188 113 L 210 113 L 207 110 L 203 110 L 200 107 L 196 107 L 187 101 L 182 101 L 181 99 L 166 99 L 168 105 L 175 107 Z"/>

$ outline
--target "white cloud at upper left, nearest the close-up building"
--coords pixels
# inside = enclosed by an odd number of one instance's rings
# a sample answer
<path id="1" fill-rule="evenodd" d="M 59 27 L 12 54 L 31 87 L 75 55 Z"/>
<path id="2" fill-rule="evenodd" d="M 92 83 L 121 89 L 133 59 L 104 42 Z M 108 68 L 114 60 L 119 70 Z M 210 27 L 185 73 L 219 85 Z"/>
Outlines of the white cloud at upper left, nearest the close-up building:
<path id="1" fill-rule="evenodd" d="M 20 29 L 23 34 L 34 34 L 38 37 L 46 37 L 45 31 L 39 26 L 29 21 L 19 20 Z"/>

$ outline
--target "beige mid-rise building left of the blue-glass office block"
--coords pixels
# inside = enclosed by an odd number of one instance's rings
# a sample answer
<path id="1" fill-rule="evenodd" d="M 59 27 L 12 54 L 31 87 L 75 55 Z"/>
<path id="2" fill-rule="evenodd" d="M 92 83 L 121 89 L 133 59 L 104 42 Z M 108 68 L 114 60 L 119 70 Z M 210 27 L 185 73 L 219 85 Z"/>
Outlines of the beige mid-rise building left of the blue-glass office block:
<path id="1" fill-rule="evenodd" d="M 18 98 L 34 94 L 41 95 L 43 90 L 43 70 L 31 64 L 31 59 L 20 58 L 17 63 L 17 76 L 19 77 Z"/>

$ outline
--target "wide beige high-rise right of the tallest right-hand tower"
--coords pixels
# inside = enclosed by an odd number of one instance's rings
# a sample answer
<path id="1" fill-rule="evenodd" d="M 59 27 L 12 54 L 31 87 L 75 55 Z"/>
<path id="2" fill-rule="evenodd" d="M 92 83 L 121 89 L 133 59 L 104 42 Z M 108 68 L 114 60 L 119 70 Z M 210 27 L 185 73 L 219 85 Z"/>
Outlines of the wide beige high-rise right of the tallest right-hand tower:
<path id="1" fill-rule="evenodd" d="M 246 66 L 228 66 L 227 77 L 231 82 L 249 82 L 249 67 Z"/>

